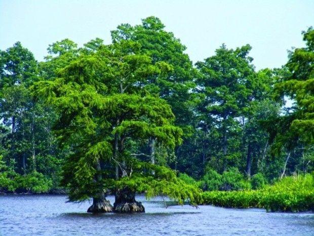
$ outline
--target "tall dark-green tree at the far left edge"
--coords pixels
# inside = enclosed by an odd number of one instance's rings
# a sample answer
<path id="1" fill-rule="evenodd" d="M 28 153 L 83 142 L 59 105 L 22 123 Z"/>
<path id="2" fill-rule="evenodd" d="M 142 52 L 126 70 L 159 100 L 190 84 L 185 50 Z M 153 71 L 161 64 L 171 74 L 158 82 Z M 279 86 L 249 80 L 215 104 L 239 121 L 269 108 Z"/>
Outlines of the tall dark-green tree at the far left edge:
<path id="1" fill-rule="evenodd" d="M 7 137 L 8 157 L 14 158 L 25 172 L 27 157 L 21 142 L 23 134 L 28 132 L 24 121 L 34 106 L 28 87 L 38 79 L 37 62 L 33 54 L 17 42 L 6 51 L 0 51 L 0 75 L 0 117 L 11 130 Z"/>

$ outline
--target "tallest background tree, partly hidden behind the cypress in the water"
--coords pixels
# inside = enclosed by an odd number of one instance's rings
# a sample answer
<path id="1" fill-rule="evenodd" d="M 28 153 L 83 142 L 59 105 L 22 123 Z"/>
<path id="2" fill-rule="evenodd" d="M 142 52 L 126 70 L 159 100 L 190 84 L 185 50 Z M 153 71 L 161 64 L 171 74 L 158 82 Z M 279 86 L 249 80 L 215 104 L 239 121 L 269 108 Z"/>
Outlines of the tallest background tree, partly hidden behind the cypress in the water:
<path id="1" fill-rule="evenodd" d="M 159 18 L 153 16 L 142 19 L 140 25 L 121 24 L 111 31 L 111 37 L 112 42 L 138 43 L 139 50 L 151 58 L 153 65 L 166 62 L 168 65 L 164 64 L 165 66 L 171 66 L 171 70 L 166 70 L 168 73 L 149 75 L 142 84 L 147 91 L 168 102 L 175 115 L 175 124 L 184 130 L 183 142 L 188 142 L 188 137 L 194 131 L 195 94 L 192 89 L 195 87 L 197 73 L 188 55 L 184 53 L 186 47 L 172 32 L 165 30 L 165 25 Z M 154 139 L 149 139 L 146 146 L 152 163 L 164 161 L 163 152 L 167 150 L 155 147 Z M 179 155 L 178 160 L 168 158 L 166 161 L 173 167 L 176 166 L 175 163 L 183 162 L 186 158 L 178 149 L 176 154 Z M 167 155 L 170 156 L 171 153 L 168 152 Z"/>

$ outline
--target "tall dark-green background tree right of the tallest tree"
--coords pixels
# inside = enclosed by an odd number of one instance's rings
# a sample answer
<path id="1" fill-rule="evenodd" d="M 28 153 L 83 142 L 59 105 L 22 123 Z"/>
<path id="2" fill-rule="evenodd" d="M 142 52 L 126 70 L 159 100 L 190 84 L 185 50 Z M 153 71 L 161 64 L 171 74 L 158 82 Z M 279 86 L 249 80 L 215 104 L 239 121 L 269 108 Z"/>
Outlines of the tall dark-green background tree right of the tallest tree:
<path id="1" fill-rule="evenodd" d="M 222 45 L 216 55 L 197 63 L 202 74 L 198 81 L 202 97 L 199 106 L 201 124 L 219 132 L 222 156 L 218 161 L 222 170 L 240 158 L 237 152 L 228 152 L 228 145 L 230 149 L 236 148 L 230 146 L 236 143 L 228 140 L 239 135 L 241 123 L 245 122 L 244 109 L 252 100 L 255 73 L 251 64 L 253 59 L 248 56 L 250 50 L 250 45 L 235 50 Z"/>

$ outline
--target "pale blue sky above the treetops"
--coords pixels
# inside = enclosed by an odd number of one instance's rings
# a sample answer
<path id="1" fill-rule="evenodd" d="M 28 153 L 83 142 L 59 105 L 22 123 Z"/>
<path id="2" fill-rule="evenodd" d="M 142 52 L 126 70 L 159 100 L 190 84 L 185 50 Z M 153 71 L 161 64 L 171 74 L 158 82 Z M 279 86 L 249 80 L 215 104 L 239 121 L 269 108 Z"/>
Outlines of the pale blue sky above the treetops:
<path id="1" fill-rule="evenodd" d="M 57 1 L 0 0 L 0 49 L 16 41 L 37 60 L 49 44 L 69 38 L 82 46 L 96 37 L 110 43 L 110 30 L 159 17 L 187 46 L 195 63 L 228 48 L 251 44 L 257 69 L 279 67 L 287 50 L 302 47 L 301 31 L 314 25 L 314 0 L 299 1 Z"/>

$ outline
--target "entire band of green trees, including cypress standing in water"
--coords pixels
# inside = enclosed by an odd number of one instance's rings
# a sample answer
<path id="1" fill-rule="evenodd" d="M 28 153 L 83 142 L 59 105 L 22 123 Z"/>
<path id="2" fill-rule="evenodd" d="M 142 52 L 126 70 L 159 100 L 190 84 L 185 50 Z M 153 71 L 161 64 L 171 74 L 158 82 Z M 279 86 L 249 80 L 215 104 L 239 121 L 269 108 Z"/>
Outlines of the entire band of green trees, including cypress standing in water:
<path id="1" fill-rule="evenodd" d="M 302 36 L 282 68 L 259 71 L 249 44 L 193 64 L 156 17 L 109 45 L 52 43 L 40 62 L 15 43 L 0 51 L 0 192 L 143 212 L 135 193 L 197 204 L 313 172 L 314 29 Z"/>

